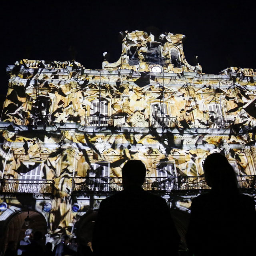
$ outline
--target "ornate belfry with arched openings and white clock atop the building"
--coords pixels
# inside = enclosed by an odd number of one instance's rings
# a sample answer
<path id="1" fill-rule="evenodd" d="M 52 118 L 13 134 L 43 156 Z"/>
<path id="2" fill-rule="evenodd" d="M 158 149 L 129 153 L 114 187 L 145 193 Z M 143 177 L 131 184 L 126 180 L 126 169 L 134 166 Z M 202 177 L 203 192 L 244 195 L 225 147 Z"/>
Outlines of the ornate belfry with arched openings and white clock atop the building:
<path id="1" fill-rule="evenodd" d="M 123 36 L 122 54 L 118 61 L 104 60 L 104 70 L 133 69 L 141 72 L 202 72 L 197 64 L 191 66 L 185 59 L 182 34 L 164 33 L 159 37 L 144 31 L 120 32 Z M 103 56 L 106 56 L 106 52 Z"/>

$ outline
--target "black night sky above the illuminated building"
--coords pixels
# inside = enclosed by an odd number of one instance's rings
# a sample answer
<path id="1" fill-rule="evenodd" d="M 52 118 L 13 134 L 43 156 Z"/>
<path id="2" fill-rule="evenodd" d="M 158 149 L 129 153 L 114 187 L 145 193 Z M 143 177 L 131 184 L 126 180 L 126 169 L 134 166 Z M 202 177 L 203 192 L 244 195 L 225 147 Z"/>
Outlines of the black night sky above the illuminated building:
<path id="1" fill-rule="evenodd" d="M 230 66 L 256 68 L 254 1 L 5 1 L 2 4 L 1 86 L 16 60 L 75 60 L 102 68 L 103 52 L 118 60 L 119 32 L 149 30 L 186 35 L 184 53 L 205 73 Z M 73 50 L 70 50 L 73 49 Z"/>

